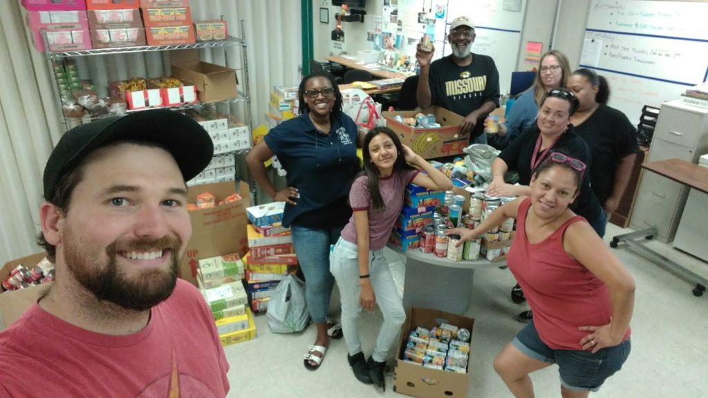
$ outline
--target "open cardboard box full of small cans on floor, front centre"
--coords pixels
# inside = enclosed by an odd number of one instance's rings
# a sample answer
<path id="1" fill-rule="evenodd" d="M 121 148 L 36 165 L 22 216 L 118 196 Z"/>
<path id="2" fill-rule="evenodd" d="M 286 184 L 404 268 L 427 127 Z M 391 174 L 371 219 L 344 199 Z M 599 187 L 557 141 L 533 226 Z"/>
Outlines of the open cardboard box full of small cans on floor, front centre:
<path id="1" fill-rule="evenodd" d="M 467 397 L 474 319 L 411 307 L 401 326 L 394 391 L 412 397 Z"/>

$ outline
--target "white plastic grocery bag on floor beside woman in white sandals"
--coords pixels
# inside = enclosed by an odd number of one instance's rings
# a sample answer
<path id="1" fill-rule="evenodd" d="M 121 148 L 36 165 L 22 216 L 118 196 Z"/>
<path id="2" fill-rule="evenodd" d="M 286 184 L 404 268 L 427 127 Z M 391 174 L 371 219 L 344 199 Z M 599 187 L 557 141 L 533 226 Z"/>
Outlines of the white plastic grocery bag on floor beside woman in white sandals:
<path id="1" fill-rule="evenodd" d="M 309 324 L 304 282 L 287 275 L 268 301 L 268 326 L 273 333 L 295 333 Z"/>

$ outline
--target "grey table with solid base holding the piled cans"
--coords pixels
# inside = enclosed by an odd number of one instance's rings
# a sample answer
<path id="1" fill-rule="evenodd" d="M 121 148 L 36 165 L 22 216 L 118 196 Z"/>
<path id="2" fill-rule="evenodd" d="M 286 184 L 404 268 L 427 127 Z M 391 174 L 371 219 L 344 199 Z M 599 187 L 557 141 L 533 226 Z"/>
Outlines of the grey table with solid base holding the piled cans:
<path id="1" fill-rule="evenodd" d="M 492 263 L 486 258 L 470 261 L 448 261 L 420 249 L 401 251 L 389 244 L 406 264 L 403 288 L 403 307 L 440 309 L 452 314 L 467 311 L 472 300 L 474 270 L 506 266 L 506 261 Z"/>

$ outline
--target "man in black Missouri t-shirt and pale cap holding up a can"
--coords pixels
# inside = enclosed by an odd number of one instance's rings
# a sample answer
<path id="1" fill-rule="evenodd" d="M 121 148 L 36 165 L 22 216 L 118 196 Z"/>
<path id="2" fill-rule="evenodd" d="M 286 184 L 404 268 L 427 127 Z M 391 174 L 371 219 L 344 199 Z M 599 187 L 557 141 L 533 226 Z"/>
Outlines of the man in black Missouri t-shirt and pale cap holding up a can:
<path id="1" fill-rule="evenodd" d="M 459 16 L 447 35 L 451 55 L 430 63 L 433 51 L 418 45 L 417 97 L 421 108 L 437 105 L 463 116 L 460 132 L 470 132 L 469 143 L 486 144 L 484 118 L 499 106 L 499 72 L 491 57 L 472 54 L 474 37 L 472 20 Z"/>

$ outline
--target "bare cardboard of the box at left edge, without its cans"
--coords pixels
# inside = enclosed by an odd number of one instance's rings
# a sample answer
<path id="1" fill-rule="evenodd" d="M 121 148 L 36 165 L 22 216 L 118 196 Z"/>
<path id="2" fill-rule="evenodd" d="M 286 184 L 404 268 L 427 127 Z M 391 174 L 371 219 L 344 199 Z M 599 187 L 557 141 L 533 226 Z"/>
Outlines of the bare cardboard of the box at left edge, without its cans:
<path id="1" fill-rule="evenodd" d="M 2 268 L 0 268 L 0 281 L 5 280 L 8 276 L 10 276 L 12 270 L 20 264 L 31 270 L 40 261 L 42 261 L 42 258 L 45 258 L 45 256 L 46 254 L 42 252 L 8 261 Z M 30 288 L 13 290 L 11 292 L 4 292 L 0 294 L 0 330 L 4 330 L 15 323 L 15 321 L 19 319 L 31 305 L 37 302 L 40 295 L 42 295 L 42 293 L 44 293 L 45 290 L 47 290 L 51 285 L 52 282 L 42 283 L 42 285 L 36 285 Z"/>

